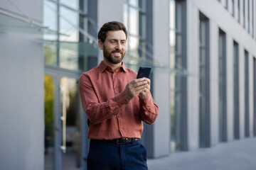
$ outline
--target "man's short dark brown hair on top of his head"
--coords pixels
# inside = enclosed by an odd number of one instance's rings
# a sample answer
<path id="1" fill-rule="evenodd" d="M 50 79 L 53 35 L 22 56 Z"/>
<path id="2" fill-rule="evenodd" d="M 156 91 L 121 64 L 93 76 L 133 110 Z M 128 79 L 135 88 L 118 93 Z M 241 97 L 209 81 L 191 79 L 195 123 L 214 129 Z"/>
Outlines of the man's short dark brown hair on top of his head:
<path id="1" fill-rule="evenodd" d="M 97 36 L 101 42 L 105 42 L 105 39 L 107 37 L 107 31 L 109 30 L 123 30 L 127 38 L 127 29 L 125 28 L 124 24 L 118 21 L 111 21 L 111 22 L 105 23 L 102 26 L 102 28 L 100 28 L 100 31 Z"/>

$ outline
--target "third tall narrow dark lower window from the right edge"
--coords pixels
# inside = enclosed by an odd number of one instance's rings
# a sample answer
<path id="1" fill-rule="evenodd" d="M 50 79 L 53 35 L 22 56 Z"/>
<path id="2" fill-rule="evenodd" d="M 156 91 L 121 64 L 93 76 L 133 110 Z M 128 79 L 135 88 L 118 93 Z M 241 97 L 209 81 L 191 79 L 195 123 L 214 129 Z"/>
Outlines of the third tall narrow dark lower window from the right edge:
<path id="1" fill-rule="evenodd" d="M 240 138 L 240 113 L 239 113 L 239 46 L 233 42 L 233 93 L 234 93 L 234 138 Z"/>

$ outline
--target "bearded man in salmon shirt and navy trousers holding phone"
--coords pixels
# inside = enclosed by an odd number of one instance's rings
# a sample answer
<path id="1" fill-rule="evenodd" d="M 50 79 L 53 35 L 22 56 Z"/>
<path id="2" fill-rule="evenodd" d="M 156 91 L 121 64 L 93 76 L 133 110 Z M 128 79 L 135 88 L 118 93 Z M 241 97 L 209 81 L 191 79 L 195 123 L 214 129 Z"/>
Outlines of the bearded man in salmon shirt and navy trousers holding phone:
<path id="1" fill-rule="evenodd" d="M 117 21 L 105 23 L 98 33 L 103 61 L 79 81 L 87 114 L 90 150 L 87 169 L 148 169 L 142 146 L 142 121 L 152 124 L 158 106 L 150 94 L 150 79 L 136 79 L 125 67 L 127 30 Z"/>

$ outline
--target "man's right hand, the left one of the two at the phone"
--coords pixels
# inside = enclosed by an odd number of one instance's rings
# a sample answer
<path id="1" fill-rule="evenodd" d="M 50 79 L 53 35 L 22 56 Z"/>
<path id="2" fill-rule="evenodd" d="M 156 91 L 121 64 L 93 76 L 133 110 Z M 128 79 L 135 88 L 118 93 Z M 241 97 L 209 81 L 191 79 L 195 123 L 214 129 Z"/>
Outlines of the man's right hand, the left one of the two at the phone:
<path id="1" fill-rule="evenodd" d="M 134 79 L 130 81 L 124 89 L 124 96 L 127 101 L 132 100 L 139 93 L 144 91 L 144 89 L 149 86 L 148 81 L 145 78 Z"/>

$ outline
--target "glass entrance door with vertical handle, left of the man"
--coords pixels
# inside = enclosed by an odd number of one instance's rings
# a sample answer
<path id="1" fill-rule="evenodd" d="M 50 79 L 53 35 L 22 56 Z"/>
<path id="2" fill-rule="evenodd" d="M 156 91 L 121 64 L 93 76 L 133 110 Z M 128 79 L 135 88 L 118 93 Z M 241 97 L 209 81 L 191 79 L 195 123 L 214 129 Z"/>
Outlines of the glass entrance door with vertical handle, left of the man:
<path id="1" fill-rule="evenodd" d="M 45 75 L 45 170 L 82 169 L 78 79 Z"/>

